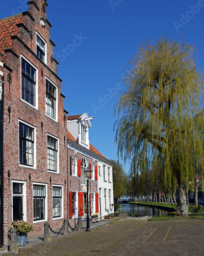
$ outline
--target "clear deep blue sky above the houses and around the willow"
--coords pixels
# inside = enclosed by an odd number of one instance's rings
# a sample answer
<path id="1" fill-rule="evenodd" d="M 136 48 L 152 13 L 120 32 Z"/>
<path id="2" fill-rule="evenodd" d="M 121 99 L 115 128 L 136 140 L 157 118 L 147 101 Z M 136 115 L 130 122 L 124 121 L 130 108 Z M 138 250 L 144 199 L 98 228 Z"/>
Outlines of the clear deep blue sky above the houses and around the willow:
<path id="1" fill-rule="evenodd" d="M 183 34 L 197 47 L 203 69 L 204 1 L 47 0 L 47 4 L 65 110 L 69 115 L 94 116 L 91 144 L 107 158 L 117 159 L 114 93 L 123 87 L 118 80 L 131 56 L 148 38 L 166 34 L 177 39 Z M 27 10 L 27 1 L 4 1 L 1 18 Z"/>

